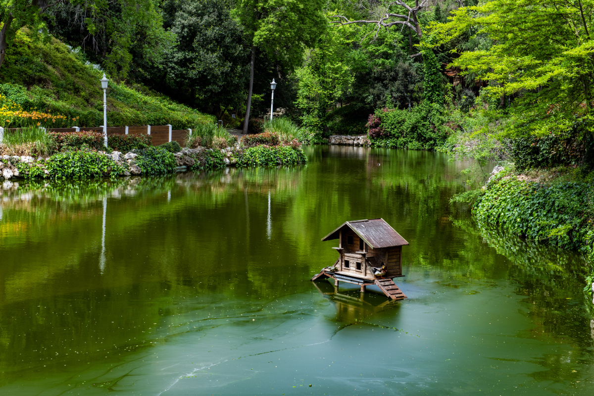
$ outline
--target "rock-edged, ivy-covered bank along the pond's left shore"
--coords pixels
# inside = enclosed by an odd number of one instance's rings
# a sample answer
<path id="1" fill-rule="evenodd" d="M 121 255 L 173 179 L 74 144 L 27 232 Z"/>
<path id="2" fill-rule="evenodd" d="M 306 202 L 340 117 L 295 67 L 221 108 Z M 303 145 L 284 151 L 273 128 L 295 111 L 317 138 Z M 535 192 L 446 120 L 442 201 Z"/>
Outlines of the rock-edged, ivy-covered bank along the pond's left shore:
<path id="1" fill-rule="evenodd" d="M 226 166 L 298 165 L 307 162 L 301 146 L 260 145 L 245 148 L 241 143 L 224 149 L 184 148 L 171 152 L 168 145 L 119 151 L 65 151 L 50 157 L 9 156 L 0 158 L 0 174 L 5 180 L 71 179 L 162 175 L 184 170 L 206 170 Z M 179 145 L 177 145 L 179 148 Z"/>

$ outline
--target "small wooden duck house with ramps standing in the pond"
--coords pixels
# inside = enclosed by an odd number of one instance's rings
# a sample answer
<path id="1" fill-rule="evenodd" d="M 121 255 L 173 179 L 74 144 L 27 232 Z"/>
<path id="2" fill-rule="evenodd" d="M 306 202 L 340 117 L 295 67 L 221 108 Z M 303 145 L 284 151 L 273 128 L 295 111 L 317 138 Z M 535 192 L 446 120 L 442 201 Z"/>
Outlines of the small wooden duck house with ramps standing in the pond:
<path id="1" fill-rule="evenodd" d="M 361 292 L 365 292 L 366 286 L 377 285 L 393 300 L 406 298 L 392 279 L 404 276 L 402 246 L 409 243 L 384 219 L 347 221 L 322 241 L 331 239 L 339 240 L 339 247 L 333 248 L 339 258 L 311 280 L 330 277 L 335 286 L 339 282 L 361 285 Z"/>

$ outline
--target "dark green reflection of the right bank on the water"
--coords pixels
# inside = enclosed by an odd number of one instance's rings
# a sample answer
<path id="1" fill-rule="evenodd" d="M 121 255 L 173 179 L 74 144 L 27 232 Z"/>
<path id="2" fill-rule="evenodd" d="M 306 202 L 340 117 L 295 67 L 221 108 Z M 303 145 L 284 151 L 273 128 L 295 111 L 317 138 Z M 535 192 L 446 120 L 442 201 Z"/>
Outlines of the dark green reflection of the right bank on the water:
<path id="1" fill-rule="evenodd" d="M 516 294 L 526 297 L 523 302 L 534 324 L 521 335 L 565 344 L 557 353 L 536 357 L 536 362 L 549 370 L 531 376 L 538 381 L 583 378 L 583 372 L 573 372 L 576 366 L 567 363 L 590 363 L 594 358 L 594 312 L 583 293 L 590 264 L 571 251 L 523 241 L 497 229 L 477 228 L 471 221 L 454 223 L 469 234 L 480 234 L 486 244 L 507 257 L 507 277 L 517 283 Z"/>

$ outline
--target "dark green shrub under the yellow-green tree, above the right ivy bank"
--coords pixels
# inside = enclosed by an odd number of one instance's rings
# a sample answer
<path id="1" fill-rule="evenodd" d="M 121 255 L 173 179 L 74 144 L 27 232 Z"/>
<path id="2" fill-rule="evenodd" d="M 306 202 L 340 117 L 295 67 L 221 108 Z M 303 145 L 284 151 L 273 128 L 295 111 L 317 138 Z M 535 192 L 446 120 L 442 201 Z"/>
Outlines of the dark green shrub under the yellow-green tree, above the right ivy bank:
<path id="1" fill-rule="evenodd" d="M 577 131 L 546 136 L 526 136 L 514 139 L 511 157 L 516 169 L 546 168 L 557 165 L 591 164 L 594 139 L 589 133 Z"/>

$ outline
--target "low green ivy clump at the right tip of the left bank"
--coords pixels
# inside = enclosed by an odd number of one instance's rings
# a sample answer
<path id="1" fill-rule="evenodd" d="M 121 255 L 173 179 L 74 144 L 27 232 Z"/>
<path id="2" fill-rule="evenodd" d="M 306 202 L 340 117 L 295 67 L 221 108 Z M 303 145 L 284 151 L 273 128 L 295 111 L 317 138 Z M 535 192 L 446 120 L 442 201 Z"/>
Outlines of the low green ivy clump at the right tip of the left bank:
<path id="1" fill-rule="evenodd" d="M 239 155 L 238 167 L 275 167 L 305 164 L 307 156 L 301 148 L 291 146 L 254 146 Z"/>

